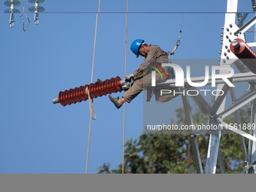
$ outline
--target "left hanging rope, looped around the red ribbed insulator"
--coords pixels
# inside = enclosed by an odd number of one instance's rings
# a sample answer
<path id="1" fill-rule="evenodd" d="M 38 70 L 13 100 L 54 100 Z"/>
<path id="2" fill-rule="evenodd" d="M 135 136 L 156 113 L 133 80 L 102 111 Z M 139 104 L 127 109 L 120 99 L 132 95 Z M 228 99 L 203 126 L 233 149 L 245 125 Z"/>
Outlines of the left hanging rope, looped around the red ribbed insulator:
<path id="1" fill-rule="evenodd" d="M 99 8 L 100 8 L 100 0 L 99 0 Z M 97 26 L 98 26 L 98 14 L 99 14 L 99 10 L 98 13 L 96 14 L 96 27 L 95 27 L 95 35 L 94 35 L 94 47 L 93 47 L 93 67 L 92 67 L 92 78 L 91 78 L 91 83 L 93 83 L 93 68 L 94 68 L 94 57 L 95 57 L 95 47 L 96 47 L 96 35 L 97 35 Z M 89 93 L 89 91 L 88 91 Z M 88 96 L 90 96 L 90 94 L 88 94 Z M 90 103 L 90 102 L 89 102 Z M 93 101 L 91 102 L 93 105 Z M 94 109 L 93 109 L 93 113 L 94 113 Z M 95 114 L 95 113 L 94 113 Z M 91 125 L 92 125 L 92 113 L 90 111 L 90 126 L 89 126 L 89 136 L 88 136 L 88 147 L 87 147 L 87 165 L 86 165 L 86 169 L 85 169 L 85 174 L 87 174 L 87 168 L 88 168 L 88 159 L 89 159 L 89 148 L 90 148 L 90 130 L 91 130 Z M 96 115 L 95 115 L 96 118 Z"/>

